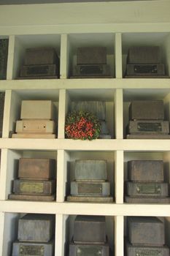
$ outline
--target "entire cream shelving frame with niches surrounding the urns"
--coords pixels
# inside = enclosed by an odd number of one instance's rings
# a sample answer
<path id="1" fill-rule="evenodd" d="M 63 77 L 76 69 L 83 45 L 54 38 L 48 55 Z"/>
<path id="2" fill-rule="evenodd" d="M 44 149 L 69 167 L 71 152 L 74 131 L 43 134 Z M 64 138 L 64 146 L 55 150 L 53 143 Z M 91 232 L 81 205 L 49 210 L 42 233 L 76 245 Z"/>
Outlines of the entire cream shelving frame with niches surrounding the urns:
<path id="1" fill-rule="evenodd" d="M 166 241 L 170 246 L 169 204 L 123 203 L 127 162 L 162 159 L 170 183 L 169 140 L 126 140 L 128 105 L 132 99 L 163 99 L 170 121 L 170 79 L 125 79 L 125 61 L 131 45 L 158 45 L 170 75 L 170 2 L 134 1 L 82 4 L 35 4 L 0 7 L 0 38 L 9 38 L 3 134 L 0 139 L 0 256 L 9 256 L 16 239 L 20 214 L 55 214 L 55 256 L 68 255 L 77 214 L 104 215 L 109 245 L 123 256 L 128 216 L 166 217 Z M 9 19 L 10 15 L 10 19 Z M 126 17 L 125 17 L 126 15 Z M 107 61 L 114 78 L 69 79 L 80 46 L 107 47 Z M 61 60 L 61 79 L 17 80 L 24 50 L 52 46 Z M 56 139 L 12 139 L 23 99 L 51 99 L 58 121 Z M 64 136 L 65 117 L 74 100 L 102 100 L 107 105 L 110 140 L 69 140 Z M 57 161 L 55 202 L 8 200 L 20 157 L 52 157 Z M 67 203 L 66 182 L 72 180 L 75 159 L 107 159 L 114 203 Z"/>

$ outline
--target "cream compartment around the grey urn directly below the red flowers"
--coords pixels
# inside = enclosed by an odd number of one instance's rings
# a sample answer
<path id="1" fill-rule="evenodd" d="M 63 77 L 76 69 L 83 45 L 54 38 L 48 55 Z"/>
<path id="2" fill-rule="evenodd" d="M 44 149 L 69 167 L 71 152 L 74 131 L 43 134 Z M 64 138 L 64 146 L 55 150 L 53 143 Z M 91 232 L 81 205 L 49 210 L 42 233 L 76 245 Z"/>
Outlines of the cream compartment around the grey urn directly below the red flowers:
<path id="1" fill-rule="evenodd" d="M 107 160 L 107 180 L 110 194 L 115 197 L 115 153 L 114 151 L 58 151 L 58 202 L 70 195 L 71 182 L 74 181 L 75 160 Z M 71 203 L 71 202 L 70 202 Z M 72 202 L 73 203 L 73 202 Z M 80 203 L 82 204 L 82 203 Z"/>

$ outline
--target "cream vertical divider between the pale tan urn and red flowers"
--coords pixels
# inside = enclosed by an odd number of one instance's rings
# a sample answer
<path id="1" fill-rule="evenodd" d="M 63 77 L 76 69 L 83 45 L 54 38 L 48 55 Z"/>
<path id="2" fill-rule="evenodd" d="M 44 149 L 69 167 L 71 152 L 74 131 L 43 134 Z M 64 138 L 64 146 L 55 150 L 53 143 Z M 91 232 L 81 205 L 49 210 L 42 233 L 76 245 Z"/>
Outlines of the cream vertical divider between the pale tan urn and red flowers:
<path id="1" fill-rule="evenodd" d="M 69 95 L 65 89 L 59 91 L 58 105 L 58 139 L 65 138 L 65 119 L 69 108 Z"/>

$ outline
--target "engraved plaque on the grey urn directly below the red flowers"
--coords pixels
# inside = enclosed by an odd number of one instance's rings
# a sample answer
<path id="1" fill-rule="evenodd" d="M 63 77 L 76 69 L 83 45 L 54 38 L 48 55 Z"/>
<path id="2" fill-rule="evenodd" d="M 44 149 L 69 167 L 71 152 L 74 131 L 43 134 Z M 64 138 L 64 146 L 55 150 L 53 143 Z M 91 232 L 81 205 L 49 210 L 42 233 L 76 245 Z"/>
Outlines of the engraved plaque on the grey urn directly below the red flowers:
<path id="1" fill-rule="evenodd" d="M 78 193 L 80 194 L 101 194 L 101 184 L 78 184 Z"/>

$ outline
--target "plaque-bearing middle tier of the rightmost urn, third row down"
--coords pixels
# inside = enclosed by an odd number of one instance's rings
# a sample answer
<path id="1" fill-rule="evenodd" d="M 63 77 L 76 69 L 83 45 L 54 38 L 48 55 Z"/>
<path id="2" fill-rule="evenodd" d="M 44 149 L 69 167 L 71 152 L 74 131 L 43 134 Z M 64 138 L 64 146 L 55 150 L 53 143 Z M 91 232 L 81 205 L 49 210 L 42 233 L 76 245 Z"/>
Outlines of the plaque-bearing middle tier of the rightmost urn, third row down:
<path id="1" fill-rule="evenodd" d="M 125 182 L 126 195 L 134 197 L 168 197 L 169 184 L 160 182 Z"/>

